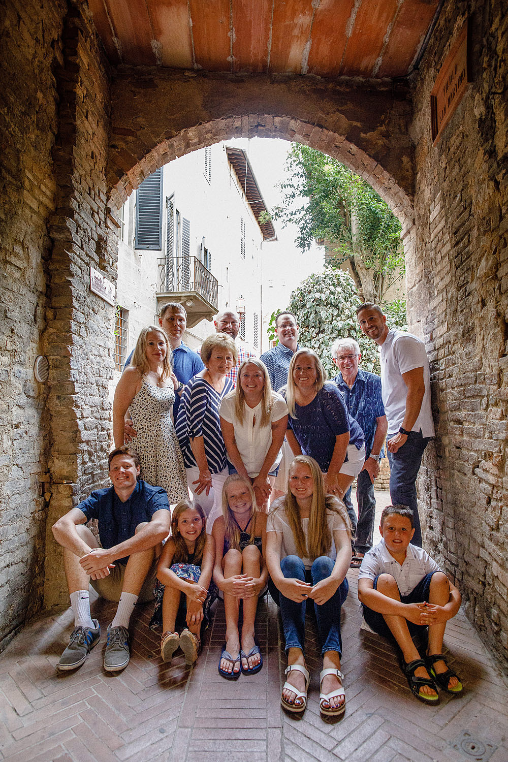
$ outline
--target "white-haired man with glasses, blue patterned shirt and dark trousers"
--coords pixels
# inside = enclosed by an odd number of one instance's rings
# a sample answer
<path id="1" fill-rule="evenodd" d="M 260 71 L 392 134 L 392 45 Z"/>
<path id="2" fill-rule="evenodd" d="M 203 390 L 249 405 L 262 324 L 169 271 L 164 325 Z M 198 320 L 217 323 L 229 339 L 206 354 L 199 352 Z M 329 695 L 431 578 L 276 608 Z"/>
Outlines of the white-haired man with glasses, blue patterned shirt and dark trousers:
<path id="1" fill-rule="evenodd" d="M 379 460 L 388 424 L 381 397 L 381 379 L 375 373 L 361 370 L 359 344 L 352 338 L 340 338 L 331 347 L 334 364 L 340 370 L 333 380 L 343 393 L 350 415 L 358 421 L 365 434 L 366 461 L 356 478 L 358 521 L 354 539 L 351 566 L 359 568 L 363 556 L 372 548 L 375 520 L 374 480 L 379 476 Z M 347 513 L 356 520 L 351 502 L 351 488 L 343 497 Z M 353 521 L 353 523 L 355 523 Z"/>

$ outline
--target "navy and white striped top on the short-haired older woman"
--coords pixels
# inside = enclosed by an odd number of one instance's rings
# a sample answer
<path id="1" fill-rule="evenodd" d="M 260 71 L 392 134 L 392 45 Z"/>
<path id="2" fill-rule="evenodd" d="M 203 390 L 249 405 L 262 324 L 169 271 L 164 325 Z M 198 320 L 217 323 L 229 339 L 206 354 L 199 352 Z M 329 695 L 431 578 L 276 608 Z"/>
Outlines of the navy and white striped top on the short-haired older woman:
<path id="1" fill-rule="evenodd" d="M 197 466 L 190 447 L 190 440 L 195 437 L 203 437 L 210 473 L 219 473 L 227 466 L 219 405 L 232 389 L 232 381 L 227 376 L 220 393 L 201 376 L 194 376 L 182 392 L 176 431 L 186 468 Z"/>

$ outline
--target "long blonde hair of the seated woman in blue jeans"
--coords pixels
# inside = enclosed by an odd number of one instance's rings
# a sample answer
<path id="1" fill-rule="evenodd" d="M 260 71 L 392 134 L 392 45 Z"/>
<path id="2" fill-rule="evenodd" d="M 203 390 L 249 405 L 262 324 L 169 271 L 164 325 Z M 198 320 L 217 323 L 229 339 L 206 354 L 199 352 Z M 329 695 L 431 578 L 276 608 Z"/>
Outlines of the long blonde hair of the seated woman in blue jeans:
<path id="1" fill-rule="evenodd" d="M 307 466 L 312 475 L 312 503 L 310 515 L 308 517 L 307 537 L 305 537 L 303 531 L 298 503 L 295 496 L 292 495 L 289 486 L 291 484 L 291 472 L 296 465 Z M 292 536 L 295 539 L 296 549 L 302 559 L 315 560 L 319 558 L 320 555 L 327 555 L 330 552 L 333 538 L 331 536 L 331 531 L 328 528 L 326 517 L 327 511 L 334 511 L 334 513 L 340 515 L 340 518 L 346 525 L 347 536 L 349 539 L 351 538 L 351 522 L 347 515 L 346 508 L 343 506 L 342 501 L 334 495 L 325 495 L 321 469 L 315 459 L 308 455 L 297 455 L 289 464 L 286 498 L 281 501 L 281 504 L 276 508 L 276 511 L 280 511 L 280 508 L 286 509 L 289 527 L 291 528 Z"/>

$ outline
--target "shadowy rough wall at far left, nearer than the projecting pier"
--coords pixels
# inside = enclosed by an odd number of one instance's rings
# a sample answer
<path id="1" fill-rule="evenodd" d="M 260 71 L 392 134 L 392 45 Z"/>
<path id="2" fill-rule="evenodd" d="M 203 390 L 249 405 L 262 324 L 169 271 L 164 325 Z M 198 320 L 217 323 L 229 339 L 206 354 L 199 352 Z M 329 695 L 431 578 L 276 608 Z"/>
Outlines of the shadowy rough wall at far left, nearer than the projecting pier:
<path id="1" fill-rule="evenodd" d="M 55 59 L 65 3 L 2 12 L 0 68 L 0 648 L 40 606 L 49 491 L 48 386 L 34 379 L 48 306 L 46 223 L 56 184 Z"/>

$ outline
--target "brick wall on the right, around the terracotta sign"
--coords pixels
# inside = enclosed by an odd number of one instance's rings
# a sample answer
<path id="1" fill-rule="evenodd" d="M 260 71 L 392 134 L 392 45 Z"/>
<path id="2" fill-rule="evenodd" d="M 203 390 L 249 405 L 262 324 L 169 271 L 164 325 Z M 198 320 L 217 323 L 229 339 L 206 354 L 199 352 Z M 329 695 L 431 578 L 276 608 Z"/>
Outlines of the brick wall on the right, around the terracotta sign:
<path id="1" fill-rule="evenodd" d="M 426 544 L 508 665 L 508 17 L 503 2 L 447 2 L 415 80 L 410 323 L 430 354 L 436 441 L 420 472 Z M 506 6 L 504 8 L 506 11 Z M 470 19 L 471 84 L 441 139 L 430 91 Z"/>

